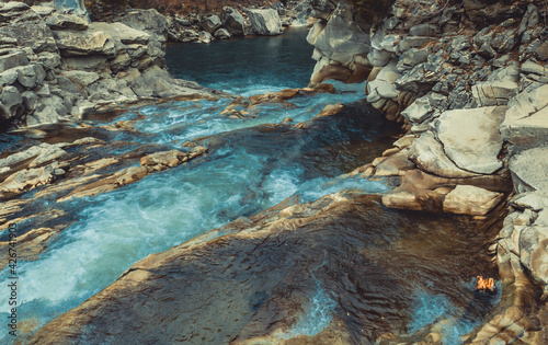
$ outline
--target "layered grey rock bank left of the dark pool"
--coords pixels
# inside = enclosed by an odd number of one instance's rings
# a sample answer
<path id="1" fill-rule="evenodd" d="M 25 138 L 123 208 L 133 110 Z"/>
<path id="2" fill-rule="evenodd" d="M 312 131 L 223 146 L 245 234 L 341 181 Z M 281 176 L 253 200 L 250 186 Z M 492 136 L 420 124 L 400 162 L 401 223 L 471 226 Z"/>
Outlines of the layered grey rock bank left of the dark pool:
<path id="1" fill-rule="evenodd" d="M 135 10 L 117 23 L 52 7 L 0 3 L 0 122 L 33 126 L 142 99 L 210 95 L 164 69 L 167 19 Z"/>

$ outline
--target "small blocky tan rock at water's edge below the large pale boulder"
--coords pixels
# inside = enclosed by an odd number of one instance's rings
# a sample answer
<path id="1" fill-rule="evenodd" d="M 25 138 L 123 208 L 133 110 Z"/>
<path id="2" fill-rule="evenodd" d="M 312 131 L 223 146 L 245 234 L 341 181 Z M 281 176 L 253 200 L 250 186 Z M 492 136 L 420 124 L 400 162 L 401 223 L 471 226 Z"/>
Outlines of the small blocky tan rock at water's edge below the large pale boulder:
<path id="1" fill-rule="evenodd" d="M 458 185 L 445 196 L 443 209 L 449 214 L 482 216 L 499 205 L 503 197 L 502 193 Z"/>

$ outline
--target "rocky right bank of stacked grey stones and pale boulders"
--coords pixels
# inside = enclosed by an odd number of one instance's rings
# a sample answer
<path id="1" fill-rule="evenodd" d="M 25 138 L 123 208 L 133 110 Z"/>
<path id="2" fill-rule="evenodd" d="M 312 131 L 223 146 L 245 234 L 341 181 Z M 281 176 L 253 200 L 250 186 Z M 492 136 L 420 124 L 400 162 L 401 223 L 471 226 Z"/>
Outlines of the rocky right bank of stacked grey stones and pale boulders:
<path id="1" fill-rule="evenodd" d="M 359 73 L 367 101 L 407 131 L 353 174 L 401 180 L 383 196 L 395 208 L 481 218 L 509 199 L 492 250 L 512 302 L 468 341 L 541 343 L 547 335 L 535 325 L 548 322 L 538 307 L 548 296 L 546 8 L 399 0 L 370 35 L 344 3 L 315 8 L 321 21 L 308 37 L 318 60 L 311 83 Z M 524 298 L 532 294 L 543 297 Z"/>

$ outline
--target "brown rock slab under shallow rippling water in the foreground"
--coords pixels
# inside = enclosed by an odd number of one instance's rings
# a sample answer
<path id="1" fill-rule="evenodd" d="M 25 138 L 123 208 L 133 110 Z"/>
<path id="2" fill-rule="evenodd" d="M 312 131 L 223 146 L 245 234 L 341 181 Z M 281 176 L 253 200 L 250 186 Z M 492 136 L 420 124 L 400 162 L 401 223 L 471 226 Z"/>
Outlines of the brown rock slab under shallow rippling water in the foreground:
<path id="1" fill-rule="evenodd" d="M 137 263 L 34 342 L 272 343 L 327 327 L 356 344 L 437 322 L 455 344 L 496 302 L 471 279 L 493 274 L 492 230 L 352 193 L 271 209 Z"/>

